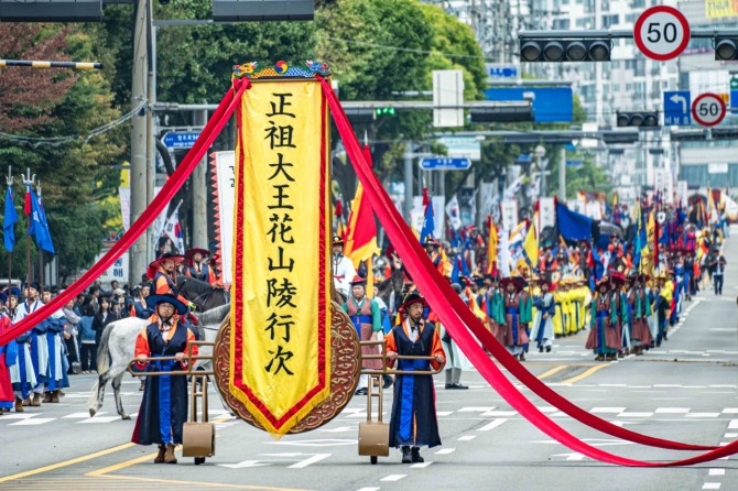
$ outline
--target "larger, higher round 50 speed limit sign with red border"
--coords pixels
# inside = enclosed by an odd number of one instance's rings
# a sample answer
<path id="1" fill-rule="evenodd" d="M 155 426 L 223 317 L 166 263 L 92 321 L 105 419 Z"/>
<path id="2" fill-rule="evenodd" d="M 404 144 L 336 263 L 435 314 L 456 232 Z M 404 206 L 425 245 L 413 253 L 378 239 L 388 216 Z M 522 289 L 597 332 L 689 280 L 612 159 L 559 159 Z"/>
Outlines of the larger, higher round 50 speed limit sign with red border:
<path id="1" fill-rule="evenodd" d="M 690 43 L 690 23 L 673 7 L 654 6 L 639 15 L 633 37 L 641 53 L 664 62 L 677 57 Z"/>

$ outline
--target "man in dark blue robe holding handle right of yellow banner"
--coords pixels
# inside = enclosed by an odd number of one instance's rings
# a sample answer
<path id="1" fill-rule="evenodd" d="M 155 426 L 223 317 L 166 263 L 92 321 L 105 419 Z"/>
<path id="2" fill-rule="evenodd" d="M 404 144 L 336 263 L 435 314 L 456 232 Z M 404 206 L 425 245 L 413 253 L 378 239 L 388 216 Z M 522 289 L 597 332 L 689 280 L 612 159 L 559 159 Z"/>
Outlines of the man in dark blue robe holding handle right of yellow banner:
<path id="1" fill-rule="evenodd" d="M 432 323 L 423 319 L 427 306 L 419 293 L 408 294 L 398 308 L 400 325 L 387 336 L 388 365 L 398 370 L 443 369 L 446 363 L 441 336 Z M 433 360 L 398 360 L 398 356 L 433 357 Z M 402 463 L 422 462 L 420 447 L 441 445 L 432 375 L 398 374 L 390 417 L 390 447 L 402 448 Z"/>

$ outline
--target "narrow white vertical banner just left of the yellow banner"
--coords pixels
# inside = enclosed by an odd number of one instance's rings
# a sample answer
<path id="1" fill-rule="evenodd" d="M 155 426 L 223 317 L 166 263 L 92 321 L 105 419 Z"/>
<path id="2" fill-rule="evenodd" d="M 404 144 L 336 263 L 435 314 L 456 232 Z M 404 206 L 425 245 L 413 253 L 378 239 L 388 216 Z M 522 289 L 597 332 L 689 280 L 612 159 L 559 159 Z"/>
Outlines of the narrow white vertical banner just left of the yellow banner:
<path id="1" fill-rule="evenodd" d="M 218 280 L 224 285 L 230 285 L 234 264 L 236 154 L 232 151 L 215 152 L 210 166 L 215 206 L 215 242 L 218 254 L 220 254 L 220 277 Z"/>

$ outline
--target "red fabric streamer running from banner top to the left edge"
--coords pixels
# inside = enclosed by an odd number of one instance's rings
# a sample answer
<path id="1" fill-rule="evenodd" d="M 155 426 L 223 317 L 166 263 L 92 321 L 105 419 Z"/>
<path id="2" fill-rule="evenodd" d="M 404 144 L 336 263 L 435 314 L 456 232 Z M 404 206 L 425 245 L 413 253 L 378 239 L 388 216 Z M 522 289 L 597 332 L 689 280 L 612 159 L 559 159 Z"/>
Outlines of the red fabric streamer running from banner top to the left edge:
<path id="1" fill-rule="evenodd" d="M 0 334 L 0 346 L 8 343 L 11 339 L 15 339 L 23 332 L 31 330 L 33 326 L 64 307 L 67 302 L 74 299 L 79 292 L 85 290 L 87 285 L 93 283 L 99 275 L 110 268 L 112 263 L 115 263 L 116 260 L 126 252 L 133 242 L 135 242 L 135 240 L 156 219 L 156 216 L 159 216 L 164 206 L 172 200 L 187 177 L 189 177 L 189 174 L 195 170 L 200 159 L 203 159 L 203 155 L 205 155 L 210 145 L 213 145 L 213 142 L 228 122 L 228 118 L 240 102 L 243 91 L 249 87 L 251 87 L 251 83 L 248 79 L 236 80 L 234 83 L 234 89 L 228 90 L 223 98 L 192 150 L 187 152 L 187 155 L 184 157 L 177 170 L 174 171 L 174 174 L 166 181 L 162 190 L 151 201 L 151 205 L 149 205 L 149 207 L 141 214 L 138 220 L 131 223 L 131 228 L 123 233 L 120 240 L 89 271 L 74 282 L 72 286 L 62 292 L 48 304 Z"/>

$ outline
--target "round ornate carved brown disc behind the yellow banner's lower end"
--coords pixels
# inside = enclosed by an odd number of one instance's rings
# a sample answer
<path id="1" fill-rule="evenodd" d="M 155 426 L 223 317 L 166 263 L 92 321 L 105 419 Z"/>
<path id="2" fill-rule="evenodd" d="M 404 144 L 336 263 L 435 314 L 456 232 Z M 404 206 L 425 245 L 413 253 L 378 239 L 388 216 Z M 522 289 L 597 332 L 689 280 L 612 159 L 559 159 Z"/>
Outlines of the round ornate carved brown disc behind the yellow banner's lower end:
<path id="1" fill-rule="evenodd" d="M 359 383 L 361 349 L 354 324 L 340 306 L 332 303 L 330 323 L 330 396 L 302 418 L 289 433 L 304 433 L 318 428 L 336 417 L 348 404 Z M 228 406 L 245 422 L 263 429 L 246 405 L 228 391 L 230 367 L 230 320 L 226 318 L 218 331 L 214 349 L 215 381 Z"/>

